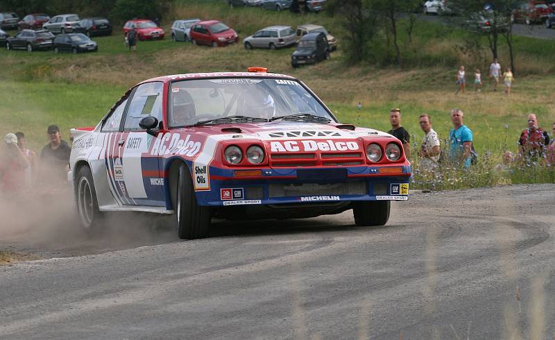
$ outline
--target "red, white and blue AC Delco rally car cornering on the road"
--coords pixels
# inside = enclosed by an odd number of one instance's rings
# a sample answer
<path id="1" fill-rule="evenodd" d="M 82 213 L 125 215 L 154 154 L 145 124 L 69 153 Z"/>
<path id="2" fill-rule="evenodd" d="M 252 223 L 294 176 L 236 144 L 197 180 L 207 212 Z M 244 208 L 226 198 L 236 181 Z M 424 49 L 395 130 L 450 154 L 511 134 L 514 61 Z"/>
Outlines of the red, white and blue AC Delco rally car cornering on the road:
<path id="1" fill-rule="evenodd" d="M 173 214 L 182 239 L 206 237 L 212 218 L 350 209 L 357 225 L 382 226 L 409 194 L 398 139 L 339 123 L 302 81 L 264 68 L 145 80 L 71 135 L 68 180 L 87 230 L 118 211 Z"/>

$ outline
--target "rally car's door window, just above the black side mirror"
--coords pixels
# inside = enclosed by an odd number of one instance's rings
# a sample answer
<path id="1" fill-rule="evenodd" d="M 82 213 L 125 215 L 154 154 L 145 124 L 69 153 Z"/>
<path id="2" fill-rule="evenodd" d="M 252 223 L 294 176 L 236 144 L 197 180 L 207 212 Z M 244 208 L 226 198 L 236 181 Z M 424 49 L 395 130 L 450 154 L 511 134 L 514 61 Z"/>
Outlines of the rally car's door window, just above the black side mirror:
<path id="1" fill-rule="evenodd" d="M 163 83 L 153 82 L 139 85 L 126 114 L 124 130 L 141 130 L 139 121 L 147 116 L 153 116 L 162 121 L 162 89 Z"/>

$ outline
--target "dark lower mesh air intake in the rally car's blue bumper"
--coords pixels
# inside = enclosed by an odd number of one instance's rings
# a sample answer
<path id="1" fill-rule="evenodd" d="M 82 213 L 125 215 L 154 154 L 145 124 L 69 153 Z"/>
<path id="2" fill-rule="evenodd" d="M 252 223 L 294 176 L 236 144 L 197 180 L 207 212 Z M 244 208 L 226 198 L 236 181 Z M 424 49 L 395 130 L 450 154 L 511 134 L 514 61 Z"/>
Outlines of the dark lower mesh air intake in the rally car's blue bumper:
<path id="1" fill-rule="evenodd" d="M 268 195 L 273 197 L 366 195 L 366 182 L 344 182 L 332 184 L 302 183 L 268 185 Z"/>

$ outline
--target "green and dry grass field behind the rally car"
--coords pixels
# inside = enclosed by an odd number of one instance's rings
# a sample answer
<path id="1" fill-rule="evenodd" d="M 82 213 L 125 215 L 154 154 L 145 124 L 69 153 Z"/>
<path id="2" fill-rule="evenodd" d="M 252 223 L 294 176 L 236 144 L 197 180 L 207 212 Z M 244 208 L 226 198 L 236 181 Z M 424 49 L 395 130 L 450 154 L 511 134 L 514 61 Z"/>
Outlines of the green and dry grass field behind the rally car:
<path id="1" fill-rule="evenodd" d="M 246 51 L 241 44 L 212 49 L 173 43 L 169 39 L 171 20 L 163 25 L 166 40 L 139 42 L 137 53 L 125 49 L 123 34 L 117 29 L 110 37 L 94 38 L 99 42 L 98 53 L 74 56 L 71 53 L 0 50 L 0 65 L 3 65 L 0 68 L 0 118 L 4 121 L 0 133 L 22 130 L 31 146 L 38 149 L 46 144 L 46 126 L 60 125 L 66 139 L 69 128 L 94 126 L 126 89 L 141 80 L 165 74 L 244 71 L 250 66 L 262 66 L 303 80 L 343 122 L 389 130 L 389 109 L 401 108 L 402 124 L 411 133 L 413 149 L 419 148 L 424 135 L 418 126 L 420 114 L 430 114 L 434 129 L 445 139 L 451 127 L 450 110 L 462 108 L 465 123 L 474 133 L 478 153 L 491 155 L 475 169 L 477 172 L 472 172 L 474 174 L 443 174 L 458 178 L 453 183 L 443 181 L 443 187 L 420 182 L 422 187 L 454 188 L 499 182 L 499 176 L 489 175 L 487 167 L 500 162 L 502 151 L 517 151 L 516 142 L 526 126 L 527 112 L 538 114 L 540 126 L 546 129 L 555 121 L 553 42 L 515 37 L 518 67 L 523 76 L 516 74 L 513 94 L 507 97 L 502 92 L 492 92 L 487 84 L 486 68 L 490 58 L 485 37 L 478 37 L 481 47 L 463 49 L 471 45 L 468 42 L 477 39 L 474 33 L 417 22 L 412 44 L 401 29 L 404 58 L 411 60 L 402 69 L 368 63 L 348 65 L 341 45 L 344 36 L 341 26 L 336 18 L 324 13 L 300 16 L 259 8 L 230 9 L 223 1 L 185 3 L 187 6 L 174 6 L 168 19 L 221 19 L 235 28 L 241 39 L 264 26 L 286 24 L 295 28 L 312 22 L 323 24 L 339 38 L 339 50 L 332 53 L 330 61 L 292 69 L 289 64 L 291 48 Z M 504 42 L 500 44 L 500 51 L 506 56 Z M 506 58 L 501 59 L 505 65 Z M 484 92 L 475 94 L 470 86 L 467 94 L 454 95 L 456 69 L 461 64 L 467 66 L 469 85 L 472 71 L 477 67 L 482 69 L 486 78 Z M 358 101 L 364 105 L 360 111 L 355 107 Z M 542 171 L 520 178 L 514 173 L 511 180 L 554 181 L 549 173 Z M 461 182 L 461 178 L 466 182 Z"/>

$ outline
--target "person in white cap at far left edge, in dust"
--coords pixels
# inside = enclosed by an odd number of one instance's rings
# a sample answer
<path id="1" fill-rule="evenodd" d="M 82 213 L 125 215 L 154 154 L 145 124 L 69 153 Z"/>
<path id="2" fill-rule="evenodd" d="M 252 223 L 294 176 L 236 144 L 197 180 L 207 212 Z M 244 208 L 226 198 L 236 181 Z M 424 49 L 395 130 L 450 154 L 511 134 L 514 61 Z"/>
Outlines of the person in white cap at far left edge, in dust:
<path id="1" fill-rule="evenodd" d="M 4 146 L 0 159 L 0 193 L 21 194 L 25 185 L 25 169 L 29 162 L 17 146 L 17 136 L 8 133 L 4 137 Z"/>

